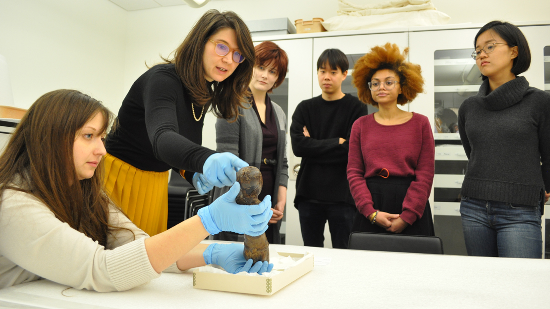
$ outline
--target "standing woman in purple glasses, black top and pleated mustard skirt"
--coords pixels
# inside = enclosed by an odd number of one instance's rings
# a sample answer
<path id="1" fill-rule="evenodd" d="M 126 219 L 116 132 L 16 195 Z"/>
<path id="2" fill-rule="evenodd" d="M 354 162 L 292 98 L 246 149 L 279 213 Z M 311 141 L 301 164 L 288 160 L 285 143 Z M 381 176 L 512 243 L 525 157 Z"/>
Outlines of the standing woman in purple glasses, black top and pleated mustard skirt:
<path id="1" fill-rule="evenodd" d="M 204 194 L 233 185 L 236 171 L 248 166 L 201 143 L 206 112 L 232 119 L 245 102 L 254 45 L 237 14 L 209 10 L 163 60 L 131 86 L 106 140 L 106 190 L 151 236 L 167 227 L 169 169 Z"/>

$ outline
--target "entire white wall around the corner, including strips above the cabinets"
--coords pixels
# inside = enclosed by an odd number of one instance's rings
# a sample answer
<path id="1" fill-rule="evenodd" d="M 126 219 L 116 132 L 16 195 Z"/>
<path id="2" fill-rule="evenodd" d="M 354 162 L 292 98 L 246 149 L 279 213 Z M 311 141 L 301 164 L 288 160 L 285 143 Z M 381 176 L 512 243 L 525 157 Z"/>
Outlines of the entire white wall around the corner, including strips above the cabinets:
<path id="1" fill-rule="evenodd" d="M 451 16 L 451 23 L 550 16 L 550 1 L 544 0 L 527 5 L 515 0 L 433 3 Z M 294 21 L 328 19 L 338 5 L 337 0 L 223 0 L 199 9 L 177 5 L 127 12 L 108 0 L 0 0 L 0 54 L 9 65 L 15 106 L 27 108 L 47 91 L 72 88 L 117 112 L 133 81 L 146 70 L 145 62 L 156 63 L 159 54 L 172 52 L 211 8 L 234 10 L 245 20 Z"/>

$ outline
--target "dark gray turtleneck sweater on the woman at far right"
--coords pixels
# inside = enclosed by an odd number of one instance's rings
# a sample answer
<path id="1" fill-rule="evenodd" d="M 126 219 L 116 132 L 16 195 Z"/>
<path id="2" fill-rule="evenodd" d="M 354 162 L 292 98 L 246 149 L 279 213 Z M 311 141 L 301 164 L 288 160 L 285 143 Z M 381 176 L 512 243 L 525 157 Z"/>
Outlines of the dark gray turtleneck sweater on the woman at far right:
<path id="1" fill-rule="evenodd" d="M 470 160 L 461 194 L 542 205 L 544 188 L 550 190 L 550 93 L 529 87 L 523 76 L 489 91 L 485 80 L 458 111 Z"/>

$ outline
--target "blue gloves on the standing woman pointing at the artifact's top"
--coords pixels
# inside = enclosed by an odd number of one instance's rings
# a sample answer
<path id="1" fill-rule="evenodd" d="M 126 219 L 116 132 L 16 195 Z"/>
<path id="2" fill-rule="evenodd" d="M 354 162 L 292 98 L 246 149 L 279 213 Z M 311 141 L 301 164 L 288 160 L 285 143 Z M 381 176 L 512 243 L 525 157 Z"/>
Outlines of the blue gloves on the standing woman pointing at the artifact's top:
<path id="1" fill-rule="evenodd" d="M 231 186 L 237 181 L 237 171 L 248 163 L 230 152 L 214 153 L 202 166 L 202 174 L 193 175 L 193 185 L 199 194 L 206 194 L 213 187 Z"/>

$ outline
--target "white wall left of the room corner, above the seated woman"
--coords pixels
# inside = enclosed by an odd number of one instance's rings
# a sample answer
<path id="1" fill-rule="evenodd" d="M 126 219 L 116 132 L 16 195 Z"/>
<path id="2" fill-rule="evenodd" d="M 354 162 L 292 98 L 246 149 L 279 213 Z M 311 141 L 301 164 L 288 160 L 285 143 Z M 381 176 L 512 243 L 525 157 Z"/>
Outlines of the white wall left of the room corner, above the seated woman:
<path id="1" fill-rule="evenodd" d="M 28 108 L 44 93 L 68 88 L 118 111 L 127 18 L 107 0 L 0 0 L 0 54 L 15 106 Z"/>

